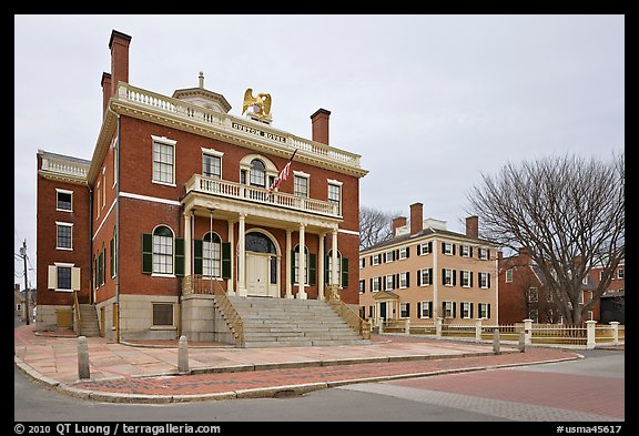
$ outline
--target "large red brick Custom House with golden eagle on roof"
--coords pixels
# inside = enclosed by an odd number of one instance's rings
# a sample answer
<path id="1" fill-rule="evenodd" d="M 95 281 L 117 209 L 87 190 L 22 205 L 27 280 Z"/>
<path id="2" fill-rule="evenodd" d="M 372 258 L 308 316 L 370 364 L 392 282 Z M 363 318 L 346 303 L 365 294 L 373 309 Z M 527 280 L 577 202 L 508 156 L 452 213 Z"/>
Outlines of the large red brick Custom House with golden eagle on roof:
<path id="1" fill-rule="evenodd" d="M 115 339 L 175 338 L 193 315 L 185 296 L 201 288 L 322 300 L 336 285 L 356 306 L 349 264 L 367 171 L 328 145 L 331 112 L 311 115 L 307 140 L 251 111 L 230 114 L 202 73 L 172 97 L 135 88 L 130 42 L 111 34 L 92 159 L 38 153 L 40 327 L 68 317 L 74 292 Z M 270 193 L 295 150 L 288 180 Z"/>

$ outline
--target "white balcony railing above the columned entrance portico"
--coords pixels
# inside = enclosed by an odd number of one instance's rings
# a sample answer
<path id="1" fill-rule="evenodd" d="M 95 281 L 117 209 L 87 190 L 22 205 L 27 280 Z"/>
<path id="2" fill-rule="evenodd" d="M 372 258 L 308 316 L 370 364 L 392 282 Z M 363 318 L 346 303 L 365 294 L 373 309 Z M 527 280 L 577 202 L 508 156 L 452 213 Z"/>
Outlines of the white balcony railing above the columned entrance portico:
<path id="1" fill-rule="evenodd" d="M 191 180 L 186 183 L 186 193 L 190 192 L 199 192 L 277 207 L 286 207 L 313 214 L 341 217 L 337 205 L 327 201 L 307 199 L 283 192 L 273 192 L 270 194 L 268 190 L 264 187 L 248 186 L 236 182 L 206 178 L 202 174 L 193 174 Z"/>

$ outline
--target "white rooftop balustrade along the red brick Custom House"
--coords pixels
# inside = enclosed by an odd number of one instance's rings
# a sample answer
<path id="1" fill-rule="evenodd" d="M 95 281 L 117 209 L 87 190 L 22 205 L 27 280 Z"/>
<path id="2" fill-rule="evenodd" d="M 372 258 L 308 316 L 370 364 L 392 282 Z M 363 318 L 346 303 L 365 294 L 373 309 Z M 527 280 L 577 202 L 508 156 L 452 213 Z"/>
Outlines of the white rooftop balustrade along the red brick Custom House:
<path id="1" fill-rule="evenodd" d="M 295 136 L 291 133 L 270 128 L 266 124 L 254 125 L 252 122 L 241 118 L 215 112 L 185 101 L 131 87 L 126 83 L 120 83 L 118 94 L 114 95 L 114 98 L 183 119 L 199 121 L 234 135 L 267 141 L 277 148 L 284 148 L 288 151 L 300 149 L 323 160 L 336 161 L 342 164 L 359 168 L 361 156 L 358 154 Z"/>

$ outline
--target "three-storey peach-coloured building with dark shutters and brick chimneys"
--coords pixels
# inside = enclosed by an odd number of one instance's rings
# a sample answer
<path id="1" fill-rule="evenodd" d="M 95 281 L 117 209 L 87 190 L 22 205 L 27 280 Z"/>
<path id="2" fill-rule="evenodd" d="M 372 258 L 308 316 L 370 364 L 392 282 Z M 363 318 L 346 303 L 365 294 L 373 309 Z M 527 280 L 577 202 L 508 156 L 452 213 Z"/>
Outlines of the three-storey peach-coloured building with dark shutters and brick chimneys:
<path id="1" fill-rule="evenodd" d="M 477 216 L 460 234 L 423 209 L 412 204 L 409 224 L 394 219 L 393 237 L 359 253 L 359 316 L 497 324 L 497 246 L 479 239 Z"/>

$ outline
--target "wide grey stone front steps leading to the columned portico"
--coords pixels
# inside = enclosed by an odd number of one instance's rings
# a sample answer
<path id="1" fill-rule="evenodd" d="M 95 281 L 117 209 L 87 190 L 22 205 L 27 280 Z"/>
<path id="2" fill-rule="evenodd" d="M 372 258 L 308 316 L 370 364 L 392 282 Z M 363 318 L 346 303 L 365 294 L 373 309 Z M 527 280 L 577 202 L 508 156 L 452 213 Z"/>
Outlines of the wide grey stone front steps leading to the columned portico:
<path id="1" fill-rule="evenodd" d="M 229 296 L 244 324 L 244 346 L 369 344 L 321 300 Z"/>

